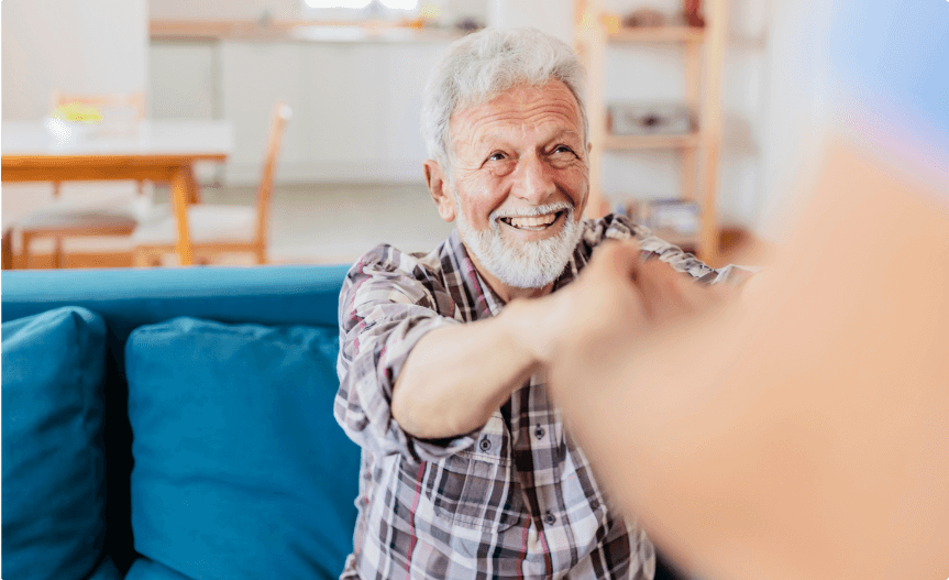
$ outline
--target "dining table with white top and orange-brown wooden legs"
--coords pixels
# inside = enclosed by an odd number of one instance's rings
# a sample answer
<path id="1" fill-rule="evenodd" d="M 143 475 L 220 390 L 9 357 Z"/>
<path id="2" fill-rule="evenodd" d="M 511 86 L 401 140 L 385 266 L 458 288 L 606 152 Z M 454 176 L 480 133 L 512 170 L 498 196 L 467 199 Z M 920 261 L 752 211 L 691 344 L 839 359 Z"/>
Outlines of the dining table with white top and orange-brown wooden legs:
<path id="1" fill-rule="evenodd" d="M 191 264 L 188 205 L 200 203 L 198 162 L 223 162 L 234 130 L 222 120 L 145 120 L 125 128 L 2 121 L 3 182 L 145 179 L 168 183 L 177 222 L 175 249 Z"/>

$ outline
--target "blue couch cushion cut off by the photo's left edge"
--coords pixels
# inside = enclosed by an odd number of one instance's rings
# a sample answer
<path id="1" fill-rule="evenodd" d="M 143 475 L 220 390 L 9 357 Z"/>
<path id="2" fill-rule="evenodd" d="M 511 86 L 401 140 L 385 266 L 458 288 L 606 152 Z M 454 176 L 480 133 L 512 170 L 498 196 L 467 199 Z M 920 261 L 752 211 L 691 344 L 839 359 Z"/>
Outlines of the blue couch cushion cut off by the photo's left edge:
<path id="1" fill-rule="evenodd" d="M 104 536 L 106 325 L 65 307 L 0 328 L 2 578 L 88 578 Z"/>

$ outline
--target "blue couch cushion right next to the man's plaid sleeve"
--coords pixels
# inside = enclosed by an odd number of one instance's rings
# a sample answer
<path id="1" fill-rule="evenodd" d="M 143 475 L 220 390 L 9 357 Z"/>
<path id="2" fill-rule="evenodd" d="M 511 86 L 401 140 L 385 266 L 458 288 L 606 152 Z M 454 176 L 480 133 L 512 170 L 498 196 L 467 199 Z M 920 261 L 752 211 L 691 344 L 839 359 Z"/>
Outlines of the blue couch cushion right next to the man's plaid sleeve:
<path id="1" fill-rule="evenodd" d="M 332 414 L 336 332 L 176 318 L 130 335 L 132 528 L 150 560 L 131 578 L 339 577 L 360 451 Z"/>

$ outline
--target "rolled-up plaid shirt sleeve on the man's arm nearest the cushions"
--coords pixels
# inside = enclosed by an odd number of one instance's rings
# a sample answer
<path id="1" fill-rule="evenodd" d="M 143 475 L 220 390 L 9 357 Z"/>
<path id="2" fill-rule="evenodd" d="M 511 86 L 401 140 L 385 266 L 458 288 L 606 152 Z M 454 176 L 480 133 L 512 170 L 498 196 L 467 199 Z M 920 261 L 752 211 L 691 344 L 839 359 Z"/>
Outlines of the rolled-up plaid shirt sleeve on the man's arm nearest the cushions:
<path id="1" fill-rule="evenodd" d="M 390 247 L 364 255 L 340 293 L 340 390 L 333 415 L 350 439 L 373 455 L 401 453 L 437 461 L 474 445 L 471 435 L 420 439 L 391 413 L 393 386 L 418 341 L 460 321 L 437 310 L 434 282 L 420 276 L 411 256 Z M 450 310 L 449 310 L 450 311 Z"/>

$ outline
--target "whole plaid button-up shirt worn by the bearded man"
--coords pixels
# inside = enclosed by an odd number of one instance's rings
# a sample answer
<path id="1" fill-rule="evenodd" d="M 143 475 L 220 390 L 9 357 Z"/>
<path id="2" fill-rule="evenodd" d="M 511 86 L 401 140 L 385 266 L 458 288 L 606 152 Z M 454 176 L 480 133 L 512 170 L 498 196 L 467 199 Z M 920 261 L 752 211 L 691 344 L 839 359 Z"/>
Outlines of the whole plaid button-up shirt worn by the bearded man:
<path id="1" fill-rule="evenodd" d="M 625 218 L 584 223 L 554 292 L 605 239 L 636 238 L 705 282 L 728 275 Z M 501 299 L 457 230 L 429 254 L 379 245 L 340 295 L 334 415 L 362 447 L 354 551 L 342 578 L 651 579 L 652 544 L 610 507 L 584 452 L 534 375 L 475 433 L 422 440 L 391 415 L 393 384 L 426 332 L 496 316 Z"/>

